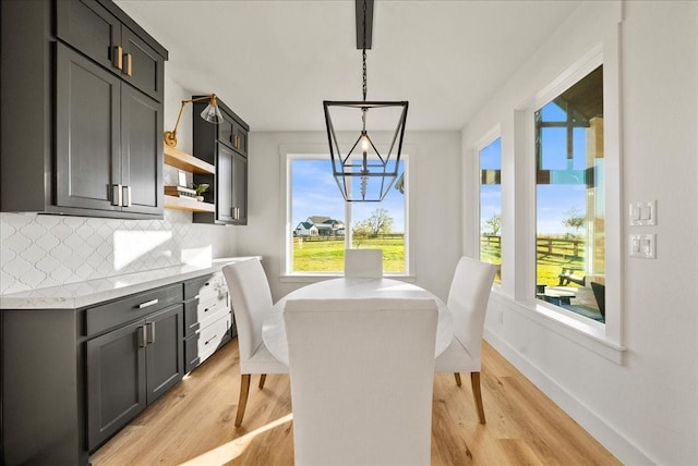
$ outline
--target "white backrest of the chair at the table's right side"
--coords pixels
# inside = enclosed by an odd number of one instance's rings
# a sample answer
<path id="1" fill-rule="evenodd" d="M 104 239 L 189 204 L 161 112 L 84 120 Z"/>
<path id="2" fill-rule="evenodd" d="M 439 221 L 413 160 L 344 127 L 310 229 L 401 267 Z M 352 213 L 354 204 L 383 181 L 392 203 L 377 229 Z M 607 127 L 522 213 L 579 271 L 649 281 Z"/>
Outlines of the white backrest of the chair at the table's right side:
<path id="1" fill-rule="evenodd" d="M 496 266 L 461 257 L 448 292 L 447 306 L 454 318 L 454 334 L 472 359 L 480 364 L 484 314 Z"/>

